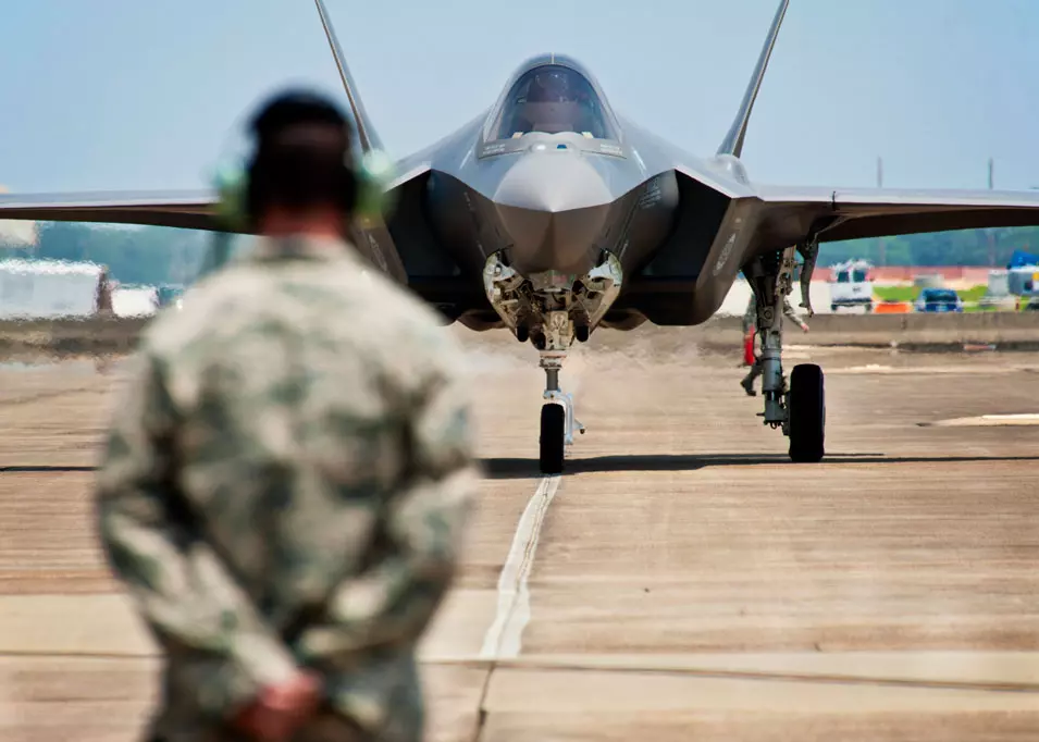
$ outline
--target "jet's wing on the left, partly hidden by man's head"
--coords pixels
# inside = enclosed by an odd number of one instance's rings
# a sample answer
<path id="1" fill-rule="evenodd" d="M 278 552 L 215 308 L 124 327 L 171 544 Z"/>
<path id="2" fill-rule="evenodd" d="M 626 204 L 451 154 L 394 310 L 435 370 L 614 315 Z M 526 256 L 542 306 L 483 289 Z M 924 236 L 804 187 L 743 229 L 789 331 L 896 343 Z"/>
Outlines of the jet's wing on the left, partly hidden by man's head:
<path id="1" fill-rule="evenodd" d="M 0 220 L 147 224 L 219 230 L 208 190 L 0 194 Z"/>

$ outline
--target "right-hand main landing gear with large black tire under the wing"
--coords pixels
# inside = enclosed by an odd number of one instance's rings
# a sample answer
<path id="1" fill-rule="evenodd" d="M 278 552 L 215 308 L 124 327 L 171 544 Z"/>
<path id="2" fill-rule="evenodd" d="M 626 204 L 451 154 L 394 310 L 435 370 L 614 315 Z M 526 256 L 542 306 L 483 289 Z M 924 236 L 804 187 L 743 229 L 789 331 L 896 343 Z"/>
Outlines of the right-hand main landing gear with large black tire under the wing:
<path id="1" fill-rule="evenodd" d="M 764 423 L 782 429 L 790 440 L 790 458 L 814 463 L 826 454 L 826 391 L 822 370 L 814 363 L 795 366 L 790 386 L 782 369 L 782 320 L 787 296 L 793 280 L 794 251 L 804 257 L 801 288 L 802 307 L 812 312 L 808 283 L 815 268 L 818 246 L 815 240 L 756 258 L 744 273 L 757 299 L 757 326 L 762 337 L 762 389 L 765 397 Z"/>

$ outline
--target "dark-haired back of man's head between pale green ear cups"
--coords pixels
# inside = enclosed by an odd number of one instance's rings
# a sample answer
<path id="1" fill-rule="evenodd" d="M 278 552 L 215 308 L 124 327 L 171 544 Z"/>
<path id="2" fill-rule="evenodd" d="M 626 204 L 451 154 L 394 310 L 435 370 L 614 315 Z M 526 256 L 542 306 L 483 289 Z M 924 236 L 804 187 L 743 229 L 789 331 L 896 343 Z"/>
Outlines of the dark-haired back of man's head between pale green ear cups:
<path id="1" fill-rule="evenodd" d="M 256 148 L 247 199 L 253 219 L 271 206 L 352 210 L 352 127 L 332 101 L 307 90 L 280 94 L 260 108 L 250 129 Z"/>

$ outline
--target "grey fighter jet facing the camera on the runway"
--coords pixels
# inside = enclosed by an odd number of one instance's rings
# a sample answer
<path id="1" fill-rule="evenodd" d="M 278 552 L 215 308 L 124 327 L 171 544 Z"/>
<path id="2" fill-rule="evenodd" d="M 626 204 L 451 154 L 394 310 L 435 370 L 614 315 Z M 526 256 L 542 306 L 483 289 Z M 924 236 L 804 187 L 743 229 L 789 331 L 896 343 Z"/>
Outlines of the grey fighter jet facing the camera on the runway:
<path id="1" fill-rule="evenodd" d="M 323 0 L 314 0 L 366 152 L 382 145 Z M 540 351 L 546 374 L 540 462 L 564 470 L 584 426 L 559 372 L 598 327 L 695 325 L 717 312 L 739 273 L 757 298 L 764 424 L 794 461 L 825 456 L 819 367 L 782 368 L 782 304 L 803 259 L 802 295 L 819 244 L 947 230 L 1039 224 L 1039 193 L 769 186 L 740 160 L 751 112 L 789 0 L 768 29 L 732 126 L 697 158 L 610 106 L 578 61 L 523 62 L 498 99 L 426 149 L 397 161 L 393 209 L 360 220 L 354 242 L 447 323 L 507 329 Z M 665 101 L 666 102 L 666 101 Z M 213 193 L 0 196 L 0 219 L 154 224 L 225 231 Z M 803 304 L 809 313 L 811 306 Z"/>

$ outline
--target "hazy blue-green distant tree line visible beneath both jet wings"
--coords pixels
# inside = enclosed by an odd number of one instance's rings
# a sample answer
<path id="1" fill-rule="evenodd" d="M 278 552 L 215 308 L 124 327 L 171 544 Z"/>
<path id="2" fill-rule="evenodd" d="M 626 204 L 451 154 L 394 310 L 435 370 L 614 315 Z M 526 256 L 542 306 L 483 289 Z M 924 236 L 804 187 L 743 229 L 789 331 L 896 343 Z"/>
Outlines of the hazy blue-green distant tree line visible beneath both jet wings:
<path id="1" fill-rule="evenodd" d="M 203 231 L 172 227 L 112 227 L 66 222 L 39 224 L 35 247 L 4 245 L 10 257 L 92 261 L 107 265 L 123 284 L 190 283 L 211 244 Z M 964 230 L 827 243 L 819 265 L 865 258 L 875 265 L 1002 267 L 1014 250 L 1039 252 L 1039 227 Z"/>

